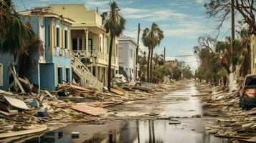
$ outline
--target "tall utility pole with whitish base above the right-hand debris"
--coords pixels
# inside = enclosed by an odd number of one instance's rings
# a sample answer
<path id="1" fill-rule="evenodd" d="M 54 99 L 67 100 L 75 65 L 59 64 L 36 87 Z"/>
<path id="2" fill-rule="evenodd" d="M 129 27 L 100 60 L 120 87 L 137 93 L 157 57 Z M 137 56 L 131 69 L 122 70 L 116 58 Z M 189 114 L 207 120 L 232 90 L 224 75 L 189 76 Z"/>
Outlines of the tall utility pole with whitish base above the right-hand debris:
<path id="1" fill-rule="evenodd" d="M 231 0 L 231 54 L 234 51 L 234 0 Z M 231 63 L 229 74 L 229 93 L 234 89 L 234 69 L 235 65 Z"/>

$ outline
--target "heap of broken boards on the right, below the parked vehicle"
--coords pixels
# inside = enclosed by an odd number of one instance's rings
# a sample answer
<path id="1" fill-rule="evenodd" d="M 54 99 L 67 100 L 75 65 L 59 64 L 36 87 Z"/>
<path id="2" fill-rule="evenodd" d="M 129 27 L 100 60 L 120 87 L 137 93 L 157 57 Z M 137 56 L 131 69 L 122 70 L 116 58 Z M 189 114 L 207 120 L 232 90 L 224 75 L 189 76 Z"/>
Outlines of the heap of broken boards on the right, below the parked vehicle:
<path id="1" fill-rule="evenodd" d="M 256 134 L 256 109 L 242 110 L 239 107 L 239 92 L 229 94 L 228 89 L 220 87 L 209 89 L 205 84 L 199 89 L 203 93 L 197 96 L 202 100 L 204 117 L 210 117 L 209 122 L 206 123 L 206 131 L 209 134 L 256 142 L 253 138 Z"/>

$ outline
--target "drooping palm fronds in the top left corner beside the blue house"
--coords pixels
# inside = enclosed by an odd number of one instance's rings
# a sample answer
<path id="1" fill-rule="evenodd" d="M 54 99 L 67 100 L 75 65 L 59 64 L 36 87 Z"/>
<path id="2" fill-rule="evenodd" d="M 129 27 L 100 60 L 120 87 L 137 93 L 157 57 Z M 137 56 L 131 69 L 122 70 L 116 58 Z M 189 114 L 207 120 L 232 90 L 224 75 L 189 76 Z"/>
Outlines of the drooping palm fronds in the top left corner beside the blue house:
<path id="1" fill-rule="evenodd" d="M 14 55 L 34 38 L 34 32 L 19 18 L 11 0 L 0 0 L 0 53 Z"/>

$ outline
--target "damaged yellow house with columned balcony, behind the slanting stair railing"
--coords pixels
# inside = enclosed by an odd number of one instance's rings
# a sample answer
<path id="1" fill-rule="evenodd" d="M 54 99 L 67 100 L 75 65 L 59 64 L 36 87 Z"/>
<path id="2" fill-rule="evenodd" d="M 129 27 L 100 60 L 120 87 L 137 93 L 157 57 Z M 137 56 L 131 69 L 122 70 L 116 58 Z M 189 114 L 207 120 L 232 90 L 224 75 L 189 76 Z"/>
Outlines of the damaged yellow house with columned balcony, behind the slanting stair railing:
<path id="1" fill-rule="evenodd" d="M 110 37 L 103 28 L 98 10 L 86 9 L 83 4 L 53 4 L 54 13 L 75 21 L 71 30 L 71 54 L 80 59 L 90 72 L 102 82 L 108 83 L 108 53 Z M 112 73 L 118 73 L 118 39 L 114 39 Z"/>

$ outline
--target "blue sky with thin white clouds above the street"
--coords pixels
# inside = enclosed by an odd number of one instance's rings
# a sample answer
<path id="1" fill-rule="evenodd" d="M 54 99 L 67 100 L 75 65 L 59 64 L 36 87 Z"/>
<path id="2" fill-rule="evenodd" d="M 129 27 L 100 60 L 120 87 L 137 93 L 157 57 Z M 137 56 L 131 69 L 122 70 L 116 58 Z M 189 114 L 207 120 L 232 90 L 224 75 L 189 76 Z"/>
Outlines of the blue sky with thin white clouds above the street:
<path id="1" fill-rule="evenodd" d="M 105 0 L 14 0 L 17 9 L 31 9 L 34 6 L 47 6 L 49 4 L 85 4 L 88 9 L 99 8 L 100 11 L 108 11 L 108 3 Z M 137 39 L 138 23 L 145 29 L 156 22 L 163 30 L 165 38 L 155 51 L 163 54 L 166 47 L 167 59 L 174 59 L 174 55 L 193 54 L 196 39 L 202 34 L 216 34 L 218 22 L 216 19 L 208 19 L 204 9 L 204 0 L 117 0 L 120 12 L 127 20 L 123 34 Z M 226 22 L 222 27 L 220 37 L 229 34 L 230 26 Z M 134 31 L 133 31 L 134 30 Z M 140 41 L 140 47 L 146 50 Z M 184 60 L 194 71 L 198 65 L 195 56 L 178 57 Z"/>

